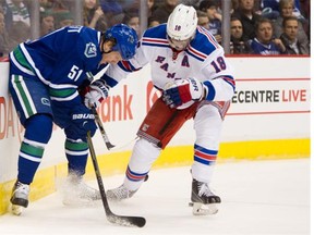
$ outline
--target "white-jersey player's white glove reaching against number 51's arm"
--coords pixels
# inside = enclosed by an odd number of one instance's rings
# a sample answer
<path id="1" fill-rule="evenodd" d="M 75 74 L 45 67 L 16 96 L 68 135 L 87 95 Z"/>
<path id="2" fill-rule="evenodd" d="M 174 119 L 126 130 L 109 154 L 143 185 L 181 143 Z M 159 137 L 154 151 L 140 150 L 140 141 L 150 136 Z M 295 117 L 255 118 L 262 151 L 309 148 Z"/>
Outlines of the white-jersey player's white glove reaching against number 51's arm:
<path id="1" fill-rule="evenodd" d="M 108 97 L 109 86 L 102 79 L 93 82 L 85 88 L 84 104 L 87 108 L 99 107 L 101 101 Z"/>

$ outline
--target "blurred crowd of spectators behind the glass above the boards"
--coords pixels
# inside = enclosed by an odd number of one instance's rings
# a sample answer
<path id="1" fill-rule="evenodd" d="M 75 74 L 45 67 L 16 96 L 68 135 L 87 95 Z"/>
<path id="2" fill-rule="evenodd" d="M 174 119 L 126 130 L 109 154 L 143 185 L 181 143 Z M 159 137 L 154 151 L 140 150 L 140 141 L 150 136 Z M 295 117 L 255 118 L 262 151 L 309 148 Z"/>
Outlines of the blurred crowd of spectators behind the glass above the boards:
<path id="1" fill-rule="evenodd" d="M 8 57 L 17 44 L 31 38 L 32 1 L 37 0 L 0 0 L 0 57 Z M 106 30 L 124 23 L 141 37 L 141 0 L 82 0 L 83 20 L 78 23 L 74 17 L 75 0 L 38 1 L 39 36 L 68 25 Z M 219 44 L 229 30 L 230 53 L 310 54 L 310 0 L 231 0 L 229 28 L 222 28 L 222 1 L 227 0 L 145 1 L 147 17 L 143 21 L 147 21 L 147 27 L 166 23 L 174 7 L 185 3 L 197 10 L 198 25 Z"/>

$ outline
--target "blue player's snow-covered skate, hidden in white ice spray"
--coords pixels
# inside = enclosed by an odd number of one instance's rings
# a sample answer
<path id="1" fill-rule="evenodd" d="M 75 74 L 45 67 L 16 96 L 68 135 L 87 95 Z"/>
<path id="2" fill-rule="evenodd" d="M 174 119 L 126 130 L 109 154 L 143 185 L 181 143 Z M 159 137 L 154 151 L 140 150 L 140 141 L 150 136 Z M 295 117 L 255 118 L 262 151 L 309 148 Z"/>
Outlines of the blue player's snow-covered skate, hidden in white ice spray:
<path id="1" fill-rule="evenodd" d="M 82 176 L 70 174 L 63 185 L 63 205 L 89 206 L 101 199 L 100 191 L 84 183 Z"/>

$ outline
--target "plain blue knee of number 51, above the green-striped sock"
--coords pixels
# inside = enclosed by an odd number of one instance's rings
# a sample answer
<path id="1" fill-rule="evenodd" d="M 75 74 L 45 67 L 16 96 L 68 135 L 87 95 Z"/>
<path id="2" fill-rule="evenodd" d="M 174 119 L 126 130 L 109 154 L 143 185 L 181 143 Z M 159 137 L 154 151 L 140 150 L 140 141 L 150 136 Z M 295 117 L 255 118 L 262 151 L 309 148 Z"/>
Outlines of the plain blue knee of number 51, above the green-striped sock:
<path id="1" fill-rule="evenodd" d="M 47 144 L 52 133 L 52 116 L 36 114 L 31 116 L 25 125 L 25 138 Z"/>

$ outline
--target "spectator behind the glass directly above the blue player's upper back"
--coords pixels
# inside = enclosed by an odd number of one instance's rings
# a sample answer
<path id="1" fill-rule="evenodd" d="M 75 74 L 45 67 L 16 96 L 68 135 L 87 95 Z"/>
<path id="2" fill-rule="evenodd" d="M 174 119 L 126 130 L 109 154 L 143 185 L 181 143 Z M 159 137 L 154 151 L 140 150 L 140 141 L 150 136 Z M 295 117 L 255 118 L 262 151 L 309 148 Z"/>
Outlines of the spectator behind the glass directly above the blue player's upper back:
<path id="1" fill-rule="evenodd" d="M 99 0 L 85 0 L 83 7 L 84 26 L 95 28 L 97 30 L 106 30 L 107 22 Z"/>

